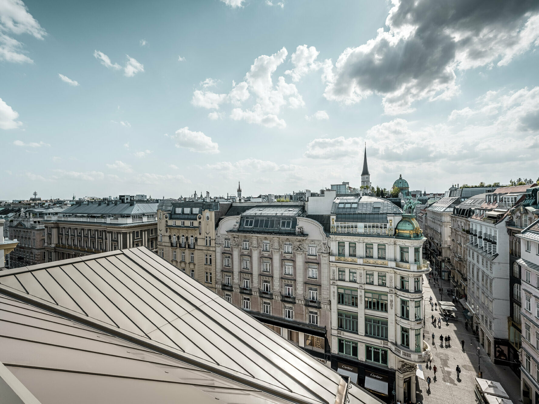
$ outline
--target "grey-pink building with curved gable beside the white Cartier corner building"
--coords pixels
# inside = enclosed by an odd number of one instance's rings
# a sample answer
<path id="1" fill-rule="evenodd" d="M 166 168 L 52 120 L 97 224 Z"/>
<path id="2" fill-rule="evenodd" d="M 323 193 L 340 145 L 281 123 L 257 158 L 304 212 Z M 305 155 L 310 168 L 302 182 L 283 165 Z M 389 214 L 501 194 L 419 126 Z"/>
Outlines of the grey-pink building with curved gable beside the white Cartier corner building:
<path id="1" fill-rule="evenodd" d="M 247 205 L 247 204 L 239 204 Z M 328 238 L 298 203 L 234 207 L 217 226 L 217 293 L 324 363 Z"/>

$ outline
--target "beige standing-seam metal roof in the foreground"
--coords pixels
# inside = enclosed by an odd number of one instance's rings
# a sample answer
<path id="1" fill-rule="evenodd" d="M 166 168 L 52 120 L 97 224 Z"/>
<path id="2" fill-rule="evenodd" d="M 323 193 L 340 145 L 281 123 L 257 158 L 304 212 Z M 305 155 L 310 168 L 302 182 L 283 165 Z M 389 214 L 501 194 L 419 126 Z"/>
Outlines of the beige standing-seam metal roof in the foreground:
<path id="1" fill-rule="evenodd" d="M 44 402 L 333 404 L 347 387 L 146 247 L 0 271 L 0 308 L 0 361 Z"/>

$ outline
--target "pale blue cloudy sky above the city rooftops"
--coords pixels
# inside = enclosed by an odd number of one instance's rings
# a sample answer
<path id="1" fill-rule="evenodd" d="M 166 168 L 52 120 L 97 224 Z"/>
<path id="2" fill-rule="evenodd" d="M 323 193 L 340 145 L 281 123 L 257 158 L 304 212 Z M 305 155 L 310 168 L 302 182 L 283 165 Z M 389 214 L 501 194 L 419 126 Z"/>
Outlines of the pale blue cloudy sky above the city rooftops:
<path id="1" fill-rule="evenodd" d="M 0 200 L 539 177 L 536 0 L 0 0 Z"/>

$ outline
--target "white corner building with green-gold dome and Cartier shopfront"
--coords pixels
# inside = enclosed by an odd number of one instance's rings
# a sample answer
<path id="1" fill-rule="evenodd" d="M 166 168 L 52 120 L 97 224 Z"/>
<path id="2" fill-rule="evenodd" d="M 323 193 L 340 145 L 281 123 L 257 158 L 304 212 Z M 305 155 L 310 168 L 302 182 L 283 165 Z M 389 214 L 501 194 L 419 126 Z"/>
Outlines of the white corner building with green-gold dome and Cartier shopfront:
<path id="1" fill-rule="evenodd" d="M 417 221 L 366 196 L 335 198 L 330 219 L 331 367 L 387 403 L 416 401 L 416 364 L 431 358 Z"/>

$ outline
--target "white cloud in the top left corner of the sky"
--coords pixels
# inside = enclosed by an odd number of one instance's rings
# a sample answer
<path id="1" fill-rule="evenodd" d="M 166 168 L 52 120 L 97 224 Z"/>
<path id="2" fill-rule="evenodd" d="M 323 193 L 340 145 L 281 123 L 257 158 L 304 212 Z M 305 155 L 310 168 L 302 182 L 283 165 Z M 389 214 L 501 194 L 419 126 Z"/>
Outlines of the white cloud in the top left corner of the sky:
<path id="1" fill-rule="evenodd" d="M 30 34 L 37 39 L 43 39 L 47 34 L 21 0 L 0 2 L 0 60 L 33 63 L 24 54 L 23 44 L 11 37 L 11 34 Z"/>

